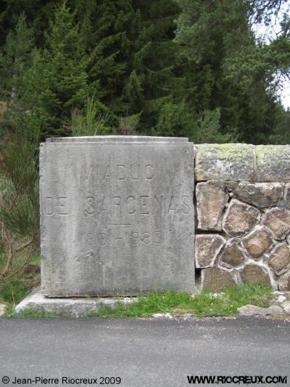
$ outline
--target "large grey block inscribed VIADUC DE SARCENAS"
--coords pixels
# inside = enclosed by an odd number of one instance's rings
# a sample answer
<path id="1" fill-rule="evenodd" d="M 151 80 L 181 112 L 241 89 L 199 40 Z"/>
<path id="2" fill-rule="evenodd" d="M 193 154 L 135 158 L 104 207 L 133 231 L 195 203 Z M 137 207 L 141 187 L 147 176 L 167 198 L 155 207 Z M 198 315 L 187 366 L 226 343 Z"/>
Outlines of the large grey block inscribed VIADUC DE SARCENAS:
<path id="1" fill-rule="evenodd" d="M 50 297 L 193 292 L 193 144 L 41 144 L 41 276 Z"/>

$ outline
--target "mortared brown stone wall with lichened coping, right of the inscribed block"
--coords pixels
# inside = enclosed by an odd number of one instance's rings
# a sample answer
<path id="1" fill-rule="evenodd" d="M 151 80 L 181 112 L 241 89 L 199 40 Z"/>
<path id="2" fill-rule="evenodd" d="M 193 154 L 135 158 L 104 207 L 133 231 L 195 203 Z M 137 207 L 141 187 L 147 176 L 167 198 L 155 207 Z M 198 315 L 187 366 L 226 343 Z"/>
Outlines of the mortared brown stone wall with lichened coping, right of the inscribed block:
<path id="1" fill-rule="evenodd" d="M 202 144 L 195 153 L 195 264 L 202 287 L 290 290 L 290 146 Z"/>

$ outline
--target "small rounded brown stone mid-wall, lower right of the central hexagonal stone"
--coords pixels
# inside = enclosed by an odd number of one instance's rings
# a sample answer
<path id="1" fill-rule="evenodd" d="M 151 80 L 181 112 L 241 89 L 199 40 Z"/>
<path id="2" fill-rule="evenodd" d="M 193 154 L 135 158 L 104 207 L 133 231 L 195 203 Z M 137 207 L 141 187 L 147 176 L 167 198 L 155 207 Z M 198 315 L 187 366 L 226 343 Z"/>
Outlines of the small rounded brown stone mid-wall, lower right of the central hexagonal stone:
<path id="1" fill-rule="evenodd" d="M 259 259 L 272 247 L 273 240 L 267 230 L 259 227 L 242 239 L 242 245 L 247 254 L 254 259 Z"/>

